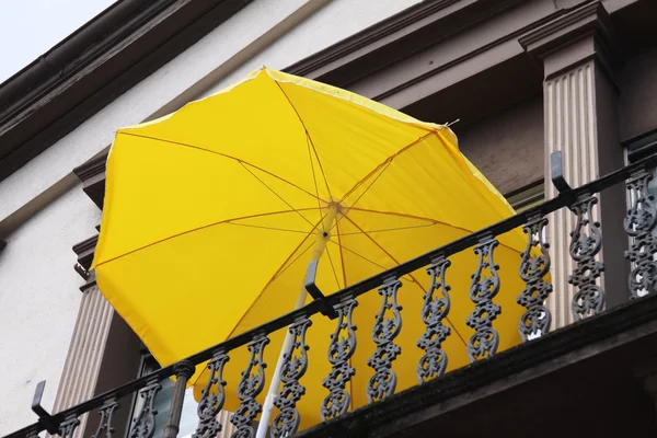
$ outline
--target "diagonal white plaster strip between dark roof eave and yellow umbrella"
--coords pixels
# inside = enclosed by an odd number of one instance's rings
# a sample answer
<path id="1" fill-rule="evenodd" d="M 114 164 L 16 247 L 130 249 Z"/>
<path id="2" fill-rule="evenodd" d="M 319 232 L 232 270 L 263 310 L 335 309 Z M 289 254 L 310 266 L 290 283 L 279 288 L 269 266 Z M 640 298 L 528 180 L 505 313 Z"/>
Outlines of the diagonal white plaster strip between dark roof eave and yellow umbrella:
<path id="1" fill-rule="evenodd" d="M 244 8 L 0 182 L 0 222 L 108 147 L 117 128 L 163 115 L 162 108 L 173 110 L 199 93 L 211 93 L 262 65 L 287 67 L 419 0 L 332 0 L 323 5 L 326 2 L 256 0 Z M 318 12 L 301 23 L 286 21 L 302 8 Z M 245 62 L 239 64 L 243 58 Z M 229 64 L 237 68 L 234 72 L 222 68 Z M 208 85 L 191 94 L 198 83 Z"/>

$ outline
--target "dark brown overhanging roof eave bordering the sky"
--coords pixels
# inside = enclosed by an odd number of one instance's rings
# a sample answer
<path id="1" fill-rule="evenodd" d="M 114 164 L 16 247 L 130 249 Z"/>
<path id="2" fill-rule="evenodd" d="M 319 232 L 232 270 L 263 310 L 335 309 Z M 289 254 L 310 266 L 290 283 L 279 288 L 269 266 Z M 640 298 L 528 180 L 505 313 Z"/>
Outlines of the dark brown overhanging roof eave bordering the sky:
<path id="1" fill-rule="evenodd" d="M 120 0 L 0 84 L 0 181 L 252 0 Z"/>

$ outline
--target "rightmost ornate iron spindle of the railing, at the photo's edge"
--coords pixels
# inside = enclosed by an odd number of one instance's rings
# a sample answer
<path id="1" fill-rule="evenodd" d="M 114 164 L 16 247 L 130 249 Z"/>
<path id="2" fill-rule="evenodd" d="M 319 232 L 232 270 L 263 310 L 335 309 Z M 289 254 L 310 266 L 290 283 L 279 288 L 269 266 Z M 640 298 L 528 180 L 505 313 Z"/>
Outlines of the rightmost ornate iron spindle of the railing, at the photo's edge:
<path id="1" fill-rule="evenodd" d="M 644 169 L 627 181 L 627 191 L 633 195 L 632 207 L 627 210 L 624 228 L 632 238 L 625 258 L 634 263 L 630 274 L 630 292 L 637 298 L 639 292 L 650 293 L 657 290 L 657 238 L 653 234 L 657 226 L 655 195 L 648 191 L 653 173 Z"/>

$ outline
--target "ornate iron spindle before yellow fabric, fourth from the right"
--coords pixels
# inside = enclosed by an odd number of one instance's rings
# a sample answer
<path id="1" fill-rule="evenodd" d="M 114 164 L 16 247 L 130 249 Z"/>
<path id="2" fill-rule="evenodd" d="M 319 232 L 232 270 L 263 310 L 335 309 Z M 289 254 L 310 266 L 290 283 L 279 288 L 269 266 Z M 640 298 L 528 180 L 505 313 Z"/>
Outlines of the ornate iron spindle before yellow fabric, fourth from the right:
<path id="1" fill-rule="evenodd" d="M 479 267 L 472 274 L 470 286 L 474 311 L 465 320 L 468 326 L 475 330 L 468 343 L 471 362 L 494 356 L 499 345 L 499 335 L 493 328 L 493 321 L 502 313 L 502 308 L 493 302 L 493 298 L 499 292 L 499 266 L 493 261 L 493 251 L 498 244 L 493 235 L 487 235 L 474 247 L 474 253 L 479 255 Z M 489 272 L 489 276 L 486 272 Z"/>

